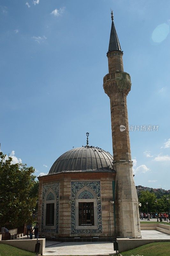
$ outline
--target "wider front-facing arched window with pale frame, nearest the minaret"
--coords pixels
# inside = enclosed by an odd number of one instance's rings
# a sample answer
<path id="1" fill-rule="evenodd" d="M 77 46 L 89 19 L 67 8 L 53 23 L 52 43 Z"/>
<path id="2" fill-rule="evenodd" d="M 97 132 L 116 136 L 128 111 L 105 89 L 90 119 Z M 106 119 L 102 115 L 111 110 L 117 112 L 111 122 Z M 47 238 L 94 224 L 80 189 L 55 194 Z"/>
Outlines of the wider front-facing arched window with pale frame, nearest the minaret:
<path id="1" fill-rule="evenodd" d="M 97 198 L 95 192 L 85 186 L 75 197 L 76 229 L 97 229 Z"/>

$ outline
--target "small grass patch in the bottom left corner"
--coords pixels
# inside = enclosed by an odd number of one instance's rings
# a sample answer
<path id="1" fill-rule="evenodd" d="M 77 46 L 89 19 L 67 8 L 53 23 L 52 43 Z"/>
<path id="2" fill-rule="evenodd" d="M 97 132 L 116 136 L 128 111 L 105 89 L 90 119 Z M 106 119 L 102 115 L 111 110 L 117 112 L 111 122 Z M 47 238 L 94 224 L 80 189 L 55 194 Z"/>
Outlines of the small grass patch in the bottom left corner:
<path id="1" fill-rule="evenodd" d="M 8 244 L 0 244 L 0 256 L 35 256 L 35 252 L 28 252 Z"/>

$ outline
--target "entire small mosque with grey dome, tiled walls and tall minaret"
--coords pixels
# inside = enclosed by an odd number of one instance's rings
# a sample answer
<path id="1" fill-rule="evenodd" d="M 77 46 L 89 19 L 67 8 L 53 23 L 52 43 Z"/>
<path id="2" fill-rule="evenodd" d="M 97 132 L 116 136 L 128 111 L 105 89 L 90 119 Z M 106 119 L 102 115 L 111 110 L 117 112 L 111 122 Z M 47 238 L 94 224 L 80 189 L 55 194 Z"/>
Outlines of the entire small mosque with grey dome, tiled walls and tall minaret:
<path id="1" fill-rule="evenodd" d="M 141 238 L 138 198 L 133 179 L 126 97 L 130 75 L 111 12 L 108 74 L 103 88 L 110 99 L 113 156 L 87 143 L 73 148 L 39 179 L 40 235 L 59 241 Z"/>

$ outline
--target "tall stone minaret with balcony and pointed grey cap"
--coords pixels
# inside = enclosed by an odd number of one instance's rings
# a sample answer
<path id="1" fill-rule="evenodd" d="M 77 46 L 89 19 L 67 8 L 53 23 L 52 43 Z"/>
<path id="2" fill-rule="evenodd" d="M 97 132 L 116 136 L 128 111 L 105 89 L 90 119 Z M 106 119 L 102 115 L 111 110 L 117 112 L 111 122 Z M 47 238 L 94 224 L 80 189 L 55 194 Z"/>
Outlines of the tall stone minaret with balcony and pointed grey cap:
<path id="1" fill-rule="evenodd" d="M 123 52 L 113 22 L 107 52 L 109 73 L 103 88 L 110 98 L 115 177 L 115 211 L 117 236 L 140 238 L 138 198 L 133 179 L 126 97 L 131 88 L 130 75 L 123 71 Z"/>

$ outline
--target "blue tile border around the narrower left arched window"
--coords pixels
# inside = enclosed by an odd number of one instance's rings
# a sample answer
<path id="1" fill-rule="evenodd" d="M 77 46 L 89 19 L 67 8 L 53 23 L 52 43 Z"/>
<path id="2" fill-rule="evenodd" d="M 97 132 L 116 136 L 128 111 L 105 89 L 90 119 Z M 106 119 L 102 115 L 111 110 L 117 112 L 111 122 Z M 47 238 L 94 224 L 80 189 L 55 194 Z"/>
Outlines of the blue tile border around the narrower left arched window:
<path id="1" fill-rule="evenodd" d="M 49 189 L 52 189 L 56 195 L 56 229 L 43 228 L 44 222 L 44 200 L 46 193 Z M 42 187 L 42 213 L 41 213 L 41 232 L 58 233 L 58 222 L 59 222 L 59 183 L 43 185 Z"/>

